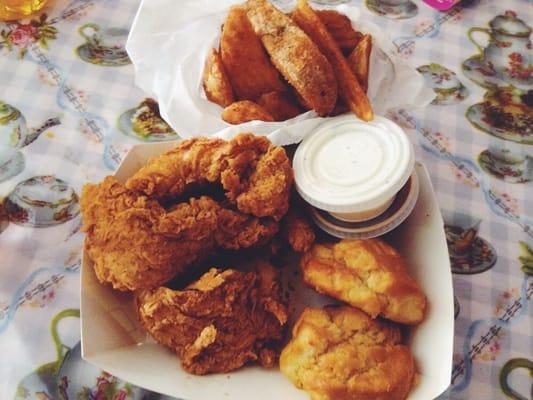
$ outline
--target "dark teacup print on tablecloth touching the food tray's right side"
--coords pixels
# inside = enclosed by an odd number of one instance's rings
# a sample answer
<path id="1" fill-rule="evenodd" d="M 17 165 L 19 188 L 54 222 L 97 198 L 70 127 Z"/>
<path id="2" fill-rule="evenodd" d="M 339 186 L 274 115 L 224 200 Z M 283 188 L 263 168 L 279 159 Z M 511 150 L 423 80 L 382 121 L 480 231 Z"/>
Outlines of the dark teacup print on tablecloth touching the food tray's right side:
<path id="1" fill-rule="evenodd" d="M 444 231 L 454 274 L 479 274 L 494 266 L 496 250 L 479 237 L 481 219 L 463 213 L 442 211 Z"/>

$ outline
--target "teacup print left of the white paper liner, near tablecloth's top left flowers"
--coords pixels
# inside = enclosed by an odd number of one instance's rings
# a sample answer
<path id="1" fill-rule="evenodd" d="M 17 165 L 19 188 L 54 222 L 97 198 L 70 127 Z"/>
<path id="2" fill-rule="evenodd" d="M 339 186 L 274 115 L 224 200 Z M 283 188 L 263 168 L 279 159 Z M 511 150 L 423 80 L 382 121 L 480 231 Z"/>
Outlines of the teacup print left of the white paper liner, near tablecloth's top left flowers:
<path id="1" fill-rule="evenodd" d="M 76 49 L 83 61 L 106 67 L 131 64 L 125 47 L 127 29 L 101 28 L 97 24 L 89 23 L 82 25 L 78 33 L 85 39 L 85 43 Z"/>

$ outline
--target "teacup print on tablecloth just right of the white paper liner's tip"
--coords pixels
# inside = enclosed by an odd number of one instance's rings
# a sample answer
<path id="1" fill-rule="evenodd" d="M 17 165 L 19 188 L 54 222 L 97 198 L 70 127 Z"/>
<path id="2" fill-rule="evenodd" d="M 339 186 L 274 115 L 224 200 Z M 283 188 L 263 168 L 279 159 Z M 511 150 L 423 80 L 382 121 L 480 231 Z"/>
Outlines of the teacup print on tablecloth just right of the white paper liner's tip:
<path id="1" fill-rule="evenodd" d="M 426 83 L 433 88 L 437 95 L 432 104 L 457 104 L 468 96 L 468 89 L 452 70 L 436 63 L 422 65 L 417 70 L 424 76 Z"/>

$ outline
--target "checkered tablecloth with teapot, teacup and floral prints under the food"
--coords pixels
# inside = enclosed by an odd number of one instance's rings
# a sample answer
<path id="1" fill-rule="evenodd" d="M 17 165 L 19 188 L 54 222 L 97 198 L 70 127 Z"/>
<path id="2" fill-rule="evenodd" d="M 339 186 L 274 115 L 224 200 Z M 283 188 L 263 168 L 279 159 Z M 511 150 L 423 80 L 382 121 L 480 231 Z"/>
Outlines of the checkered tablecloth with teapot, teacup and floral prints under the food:
<path id="1" fill-rule="evenodd" d="M 531 399 L 533 3 L 352 3 L 435 90 L 427 108 L 387 116 L 416 144 L 446 222 L 456 325 L 441 398 Z M 79 347 L 80 189 L 132 145 L 177 138 L 131 123 L 152 105 L 123 47 L 138 5 L 52 0 L 0 23 L 0 399 L 162 397 Z"/>

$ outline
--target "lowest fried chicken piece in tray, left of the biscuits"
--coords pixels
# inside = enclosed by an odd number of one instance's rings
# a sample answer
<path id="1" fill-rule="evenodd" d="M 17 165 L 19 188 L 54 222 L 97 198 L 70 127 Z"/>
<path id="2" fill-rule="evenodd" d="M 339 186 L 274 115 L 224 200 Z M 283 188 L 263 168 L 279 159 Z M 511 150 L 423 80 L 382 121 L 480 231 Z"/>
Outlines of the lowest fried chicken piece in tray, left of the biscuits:
<path id="1" fill-rule="evenodd" d="M 143 290 L 136 300 L 142 326 L 190 373 L 277 362 L 288 315 L 277 273 L 265 262 L 252 272 L 212 268 L 184 290 Z"/>

